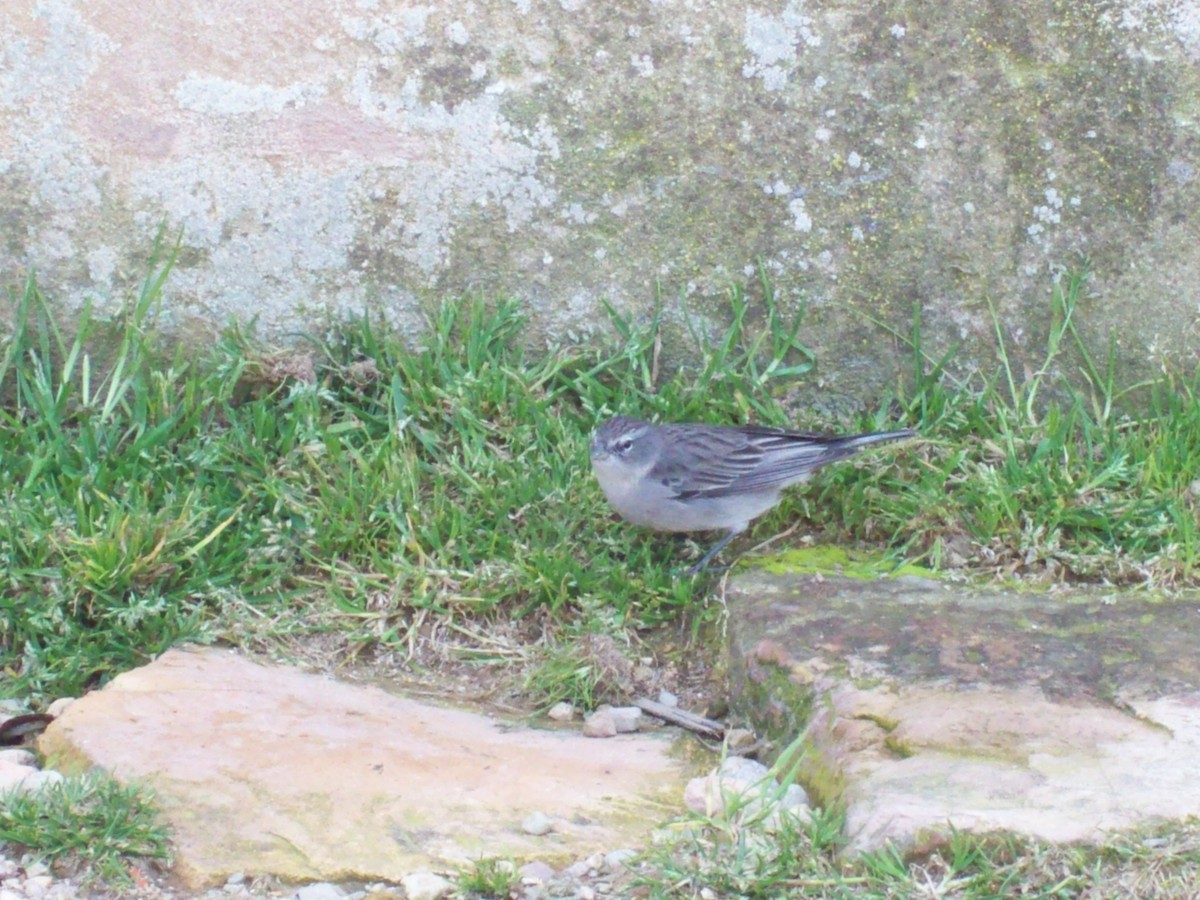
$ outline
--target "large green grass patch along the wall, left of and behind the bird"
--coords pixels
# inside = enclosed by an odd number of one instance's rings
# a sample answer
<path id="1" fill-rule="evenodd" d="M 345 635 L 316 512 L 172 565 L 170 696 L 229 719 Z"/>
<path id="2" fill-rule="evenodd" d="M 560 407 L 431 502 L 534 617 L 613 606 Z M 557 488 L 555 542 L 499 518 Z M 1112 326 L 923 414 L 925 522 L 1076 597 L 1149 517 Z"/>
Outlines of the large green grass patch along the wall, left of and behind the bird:
<path id="1" fill-rule="evenodd" d="M 677 541 L 613 521 L 588 433 L 618 410 L 784 421 L 770 388 L 806 365 L 774 304 L 758 337 L 704 341 L 700 371 L 667 376 L 658 317 L 535 358 L 520 307 L 480 299 L 433 311 L 415 352 L 362 320 L 293 350 L 232 329 L 188 358 L 154 332 L 169 268 L 160 252 L 115 328 L 84 310 L 65 334 L 32 278 L 16 298 L 0 649 L 2 690 L 35 702 L 313 598 L 352 650 L 403 649 L 431 616 L 568 638 L 673 622 L 704 583 L 674 577 Z"/>

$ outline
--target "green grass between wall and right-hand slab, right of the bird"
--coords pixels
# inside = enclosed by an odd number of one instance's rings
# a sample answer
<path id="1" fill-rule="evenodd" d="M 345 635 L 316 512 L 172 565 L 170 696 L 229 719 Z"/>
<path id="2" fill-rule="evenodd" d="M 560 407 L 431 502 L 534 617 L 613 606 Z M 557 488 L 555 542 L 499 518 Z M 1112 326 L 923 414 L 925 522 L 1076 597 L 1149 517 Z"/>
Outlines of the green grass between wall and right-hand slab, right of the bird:
<path id="1" fill-rule="evenodd" d="M 810 512 L 842 535 L 890 541 L 910 562 L 1050 581 L 1194 584 L 1200 552 L 1198 378 L 1120 379 L 1080 336 L 1088 274 L 1050 293 L 1046 346 L 1018 360 L 992 313 L 1000 365 L 952 377 L 954 352 L 926 350 L 893 403 L 924 440 L 868 467 L 833 468 Z M 870 420 L 868 425 L 877 424 Z"/>

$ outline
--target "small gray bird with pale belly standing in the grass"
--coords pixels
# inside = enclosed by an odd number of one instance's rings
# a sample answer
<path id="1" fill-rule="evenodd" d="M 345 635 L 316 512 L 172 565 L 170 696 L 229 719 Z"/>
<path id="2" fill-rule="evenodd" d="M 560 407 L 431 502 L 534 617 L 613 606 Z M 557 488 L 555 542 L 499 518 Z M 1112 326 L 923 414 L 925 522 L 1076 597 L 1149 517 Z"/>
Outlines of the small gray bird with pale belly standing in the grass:
<path id="1" fill-rule="evenodd" d="M 695 575 L 779 503 L 788 485 L 864 446 L 911 437 L 907 428 L 836 437 L 752 425 L 652 425 L 618 415 L 592 438 L 592 470 L 608 503 L 634 524 L 726 532 L 688 569 Z"/>

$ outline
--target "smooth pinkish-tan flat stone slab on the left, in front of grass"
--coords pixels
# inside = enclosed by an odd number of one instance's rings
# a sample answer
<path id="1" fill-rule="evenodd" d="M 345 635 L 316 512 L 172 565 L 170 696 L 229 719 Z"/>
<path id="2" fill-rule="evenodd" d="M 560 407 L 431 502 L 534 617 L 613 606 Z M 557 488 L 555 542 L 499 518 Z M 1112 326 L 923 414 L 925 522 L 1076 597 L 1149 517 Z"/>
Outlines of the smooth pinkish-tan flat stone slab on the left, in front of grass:
<path id="1" fill-rule="evenodd" d="M 40 749 L 68 772 L 149 782 L 190 887 L 233 872 L 398 881 L 485 856 L 565 862 L 641 842 L 682 809 L 691 774 L 665 736 L 510 726 L 220 649 L 170 650 L 114 678 Z M 534 812 L 548 834 L 522 830 Z"/>

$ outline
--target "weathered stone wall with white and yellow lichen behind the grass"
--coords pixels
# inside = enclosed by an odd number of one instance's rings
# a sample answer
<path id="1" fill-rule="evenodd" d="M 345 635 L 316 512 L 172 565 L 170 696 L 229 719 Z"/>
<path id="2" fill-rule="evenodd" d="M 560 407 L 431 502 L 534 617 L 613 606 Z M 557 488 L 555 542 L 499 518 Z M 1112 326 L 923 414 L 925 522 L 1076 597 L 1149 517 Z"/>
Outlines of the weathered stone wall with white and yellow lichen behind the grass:
<path id="1" fill-rule="evenodd" d="M 478 289 L 560 338 L 761 260 L 860 396 L 914 305 L 1036 359 L 1087 254 L 1098 352 L 1190 365 L 1198 120 L 1198 0 L 10 0 L 0 278 L 110 307 L 167 222 L 175 323 Z"/>

